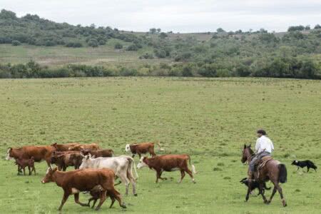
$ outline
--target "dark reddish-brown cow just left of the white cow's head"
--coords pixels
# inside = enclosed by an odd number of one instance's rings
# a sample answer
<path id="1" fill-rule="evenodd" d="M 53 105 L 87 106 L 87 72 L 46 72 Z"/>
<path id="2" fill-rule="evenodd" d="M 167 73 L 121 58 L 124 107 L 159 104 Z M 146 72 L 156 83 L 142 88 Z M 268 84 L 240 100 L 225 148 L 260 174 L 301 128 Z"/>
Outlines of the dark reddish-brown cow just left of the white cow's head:
<path id="1" fill-rule="evenodd" d="M 78 169 L 82 160 L 83 156 L 78 151 L 54 151 L 51 156 L 51 163 L 55 163 L 58 166 L 58 170 L 63 171 L 66 171 L 68 166 L 74 166 L 75 169 Z"/>

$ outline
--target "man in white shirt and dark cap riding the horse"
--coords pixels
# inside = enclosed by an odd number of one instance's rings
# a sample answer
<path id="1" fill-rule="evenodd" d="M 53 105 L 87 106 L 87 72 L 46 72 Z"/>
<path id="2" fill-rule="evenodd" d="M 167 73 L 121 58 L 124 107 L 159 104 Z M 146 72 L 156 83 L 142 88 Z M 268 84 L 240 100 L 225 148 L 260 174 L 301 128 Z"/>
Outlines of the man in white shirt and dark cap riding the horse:
<path id="1" fill-rule="evenodd" d="M 255 163 L 261 160 L 265 156 L 271 156 L 272 151 L 274 151 L 274 146 L 270 138 L 267 138 L 266 132 L 263 129 L 257 131 L 258 140 L 255 144 L 255 157 L 250 161 L 248 177 L 253 178 L 253 172 L 255 168 Z"/>

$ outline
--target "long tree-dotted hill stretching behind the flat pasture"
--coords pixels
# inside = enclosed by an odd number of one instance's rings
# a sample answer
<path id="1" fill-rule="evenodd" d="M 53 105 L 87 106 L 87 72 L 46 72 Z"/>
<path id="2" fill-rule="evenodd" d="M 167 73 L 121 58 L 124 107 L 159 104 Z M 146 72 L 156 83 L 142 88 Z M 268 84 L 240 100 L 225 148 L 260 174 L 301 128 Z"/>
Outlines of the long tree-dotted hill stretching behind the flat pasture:
<path id="1" fill-rule="evenodd" d="M 78 64 L 102 66 L 101 69 L 113 67 L 112 72 L 91 76 L 321 76 L 320 25 L 313 29 L 290 26 L 287 32 L 280 33 L 264 29 L 247 32 L 218 29 L 195 34 L 151 29 L 143 33 L 59 24 L 31 14 L 19 18 L 3 9 L 0 44 L 3 44 L 0 63 L 33 60 L 49 68 L 72 67 L 73 76 L 88 76 L 78 72 L 87 69 Z M 74 66 L 68 66 L 71 63 Z M 3 77 L 26 76 L 11 71 L 12 65 L 0 69 Z M 63 76 L 71 76 L 69 72 L 64 71 Z"/>

